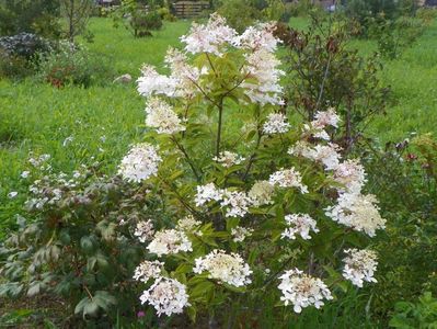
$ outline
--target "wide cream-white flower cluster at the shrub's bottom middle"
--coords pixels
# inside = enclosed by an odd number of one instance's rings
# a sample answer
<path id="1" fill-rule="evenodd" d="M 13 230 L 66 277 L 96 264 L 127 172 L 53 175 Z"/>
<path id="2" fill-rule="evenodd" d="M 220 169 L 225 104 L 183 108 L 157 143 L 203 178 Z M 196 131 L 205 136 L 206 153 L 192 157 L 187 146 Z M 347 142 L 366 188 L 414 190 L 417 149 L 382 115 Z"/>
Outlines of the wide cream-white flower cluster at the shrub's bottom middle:
<path id="1" fill-rule="evenodd" d="M 194 273 L 208 272 L 210 279 L 218 280 L 233 286 L 244 286 L 252 281 L 249 265 L 244 263 L 241 256 L 228 254 L 223 250 L 212 250 L 205 257 L 195 260 Z"/>

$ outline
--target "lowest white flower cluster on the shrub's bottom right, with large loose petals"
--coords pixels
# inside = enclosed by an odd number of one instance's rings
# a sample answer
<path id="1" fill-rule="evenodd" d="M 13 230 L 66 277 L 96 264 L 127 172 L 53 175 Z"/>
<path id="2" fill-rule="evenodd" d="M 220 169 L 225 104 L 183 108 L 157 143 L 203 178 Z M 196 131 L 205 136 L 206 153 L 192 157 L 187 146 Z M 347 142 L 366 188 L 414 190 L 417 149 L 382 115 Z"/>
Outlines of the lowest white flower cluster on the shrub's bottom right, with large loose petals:
<path id="1" fill-rule="evenodd" d="M 281 282 L 278 288 L 283 292 L 280 300 L 284 300 L 286 306 L 291 303 L 296 313 L 301 313 L 302 308 L 311 305 L 320 308 L 324 305 L 323 299 L 333 299 L 322 280 L 304 274 L 298 269 L 285 272 L 279 279 Z"/>

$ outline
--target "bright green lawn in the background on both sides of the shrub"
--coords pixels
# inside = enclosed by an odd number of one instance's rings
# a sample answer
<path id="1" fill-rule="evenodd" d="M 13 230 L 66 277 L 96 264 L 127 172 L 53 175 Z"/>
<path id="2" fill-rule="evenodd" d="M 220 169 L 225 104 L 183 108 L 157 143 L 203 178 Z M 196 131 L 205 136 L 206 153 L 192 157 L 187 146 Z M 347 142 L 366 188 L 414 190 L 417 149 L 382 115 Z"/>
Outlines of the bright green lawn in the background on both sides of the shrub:
<path id="1" fill-rule="evenodd" d="M 118 75 L 130 73 L 135 81 L 143 63 L 164 70 L 168 46 L 181 47 L 179 38 L 189 24 L 166 22 L 153 37 L 136 39 L 125 29 L 114 29 L 108 19 L 93 19 L 90 29 L 95 37 L 88 48 L 108 60 Z M 291 20 L 297 29 L 306 24 L 303 19 Z M 363 54 L 376 48 L 368 41 L 352 45 Z M 384 64 L 381 79 L 391 86 L 395 103 L 370 127 L 373 137 L 382 144 L 411 133 L 436 133 L 437 22 L 400 59 Z M 105 171 L 114 172 L 128 145 L 141 140 L 143 106 L 135 82 L 58 90 L 32 80 L 0 81 L 0 227 L 14 220 L 24 201 L 19 181 L 30 151 L 50 154 L 56 170 L 68 172 L 100 160 Z M 72 141 L 65 143 L 68 137 Z M 16 198 L 8 198 L 11 191 L 19 192 Z"/>

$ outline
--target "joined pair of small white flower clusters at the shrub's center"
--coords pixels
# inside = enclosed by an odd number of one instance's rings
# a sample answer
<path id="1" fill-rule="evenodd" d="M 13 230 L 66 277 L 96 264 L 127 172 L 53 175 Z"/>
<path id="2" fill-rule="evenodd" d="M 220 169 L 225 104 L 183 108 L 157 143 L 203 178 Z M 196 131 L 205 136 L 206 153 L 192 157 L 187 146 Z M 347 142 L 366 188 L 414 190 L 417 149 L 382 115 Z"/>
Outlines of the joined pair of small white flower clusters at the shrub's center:
<path id="1" fill-rule="evenodd" d="M 195 203 L 203 206 L 210 201 L 220 201 L 221 207 L 226 207 L 226 217 L 243 217 L 252 201 L 245 192 L 217 189 L 214 183 L 197 186 Z"/>

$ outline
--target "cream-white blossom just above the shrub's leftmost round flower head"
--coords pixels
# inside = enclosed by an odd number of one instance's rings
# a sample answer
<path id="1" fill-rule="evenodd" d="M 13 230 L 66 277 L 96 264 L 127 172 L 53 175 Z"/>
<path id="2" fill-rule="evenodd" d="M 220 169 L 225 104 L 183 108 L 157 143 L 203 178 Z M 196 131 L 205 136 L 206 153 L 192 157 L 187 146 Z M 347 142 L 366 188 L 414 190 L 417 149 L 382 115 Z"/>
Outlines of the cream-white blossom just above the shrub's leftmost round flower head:
<path id="1" fill-rule="evenodd" d="M 172 106 L 159 98 L 149 98 L 146 106 L 146 125 L 157 128 L 158 134 L 175 134 L 185 131 Z"/>

